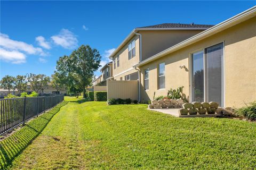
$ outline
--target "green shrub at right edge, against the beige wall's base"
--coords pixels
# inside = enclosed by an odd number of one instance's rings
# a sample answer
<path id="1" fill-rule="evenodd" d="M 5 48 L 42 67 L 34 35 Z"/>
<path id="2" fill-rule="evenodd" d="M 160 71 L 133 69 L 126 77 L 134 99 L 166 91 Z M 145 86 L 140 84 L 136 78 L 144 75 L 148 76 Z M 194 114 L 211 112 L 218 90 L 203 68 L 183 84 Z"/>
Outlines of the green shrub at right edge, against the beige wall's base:
<path id="1" fill-rule="evenodd" d="M 250 103 L 249 106 L 235 109 L 235 114 L 238 116 L 244 116 L 249 120 L 256 120 L 256 101 Z"/>

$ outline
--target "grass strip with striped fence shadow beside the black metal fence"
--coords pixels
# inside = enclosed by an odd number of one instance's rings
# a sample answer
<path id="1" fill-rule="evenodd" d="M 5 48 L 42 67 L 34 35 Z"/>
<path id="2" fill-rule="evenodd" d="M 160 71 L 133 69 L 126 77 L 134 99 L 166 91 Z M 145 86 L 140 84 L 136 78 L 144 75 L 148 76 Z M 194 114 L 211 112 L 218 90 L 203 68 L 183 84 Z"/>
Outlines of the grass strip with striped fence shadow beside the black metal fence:
<path id="1" fill-rule="evenodd" d="M 23 128 L 10 135 L 0 142 L 0 167 L 7 169 L 12 165 L 15 157 L 21 154 L 30 143 L 38 137 L 52 117 L 59 112 L 60 108 L 68 102 L 63 101 L 61 104 L 52 108 L 49 112 L 35 118 L 26 124 Z"/>

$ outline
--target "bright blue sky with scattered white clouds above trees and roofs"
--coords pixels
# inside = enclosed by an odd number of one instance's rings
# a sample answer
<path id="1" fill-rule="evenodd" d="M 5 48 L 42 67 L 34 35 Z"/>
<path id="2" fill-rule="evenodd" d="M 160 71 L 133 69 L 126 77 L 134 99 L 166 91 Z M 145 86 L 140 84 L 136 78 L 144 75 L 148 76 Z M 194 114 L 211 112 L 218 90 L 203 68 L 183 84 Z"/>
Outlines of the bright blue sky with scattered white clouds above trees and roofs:
<path id="1" fill-rule="evenodd" d="M 104 64 L 135 27 L 217 24 L 254 5 L 255 1 L 1 1 L 0 78 L 50 76 L 58 58 L 82 44 L 97 48 Z"/>

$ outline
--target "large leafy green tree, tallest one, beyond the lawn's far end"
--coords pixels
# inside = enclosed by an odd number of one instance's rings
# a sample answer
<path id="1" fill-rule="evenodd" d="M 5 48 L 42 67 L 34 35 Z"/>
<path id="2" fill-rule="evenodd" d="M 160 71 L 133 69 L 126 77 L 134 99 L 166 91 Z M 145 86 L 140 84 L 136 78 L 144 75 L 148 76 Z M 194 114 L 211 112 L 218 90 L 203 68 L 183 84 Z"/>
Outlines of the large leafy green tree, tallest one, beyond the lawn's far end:
<path id="1" fill-rule="evenodd" d="M 85 98 L 85 88 L 90 85 L 94 71 L 100 67 L 101 56 L 97 49 L 82 45 L 74 50 L 70 56 L 60 57 L 57 62 L 57 72 L 63 84 L 66 84 L 69 91 L 76 89 L 76 92 L 83 91 Z M 74 88 L 75 87 L 75 88 Z"/>

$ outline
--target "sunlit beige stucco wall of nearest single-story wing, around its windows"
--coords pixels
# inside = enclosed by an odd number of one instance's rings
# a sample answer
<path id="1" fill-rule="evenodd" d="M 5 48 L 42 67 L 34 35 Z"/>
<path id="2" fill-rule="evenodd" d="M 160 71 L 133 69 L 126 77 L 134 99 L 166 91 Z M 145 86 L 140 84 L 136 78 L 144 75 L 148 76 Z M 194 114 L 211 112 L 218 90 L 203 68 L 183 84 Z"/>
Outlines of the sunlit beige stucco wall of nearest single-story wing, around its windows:
<path id="1" fill-rule="evenodd" d="M 141 66 L 141 99 L 166 95 L 170 88 L 185 86 L 183 92 L 190 95 L 190 54 L 224 42 L 224 93 L 225 107 L 241 107 L 256 100 L 256 17 L 207 37 L 177 52 L 168 54 Z M 165 62 L 165 89 L 157 89 L 157 64 Z M 186 65 L 189 72 L 180 69 Z M 149 67 L 149 90 L 143 90 L 143 70 Z"/>

